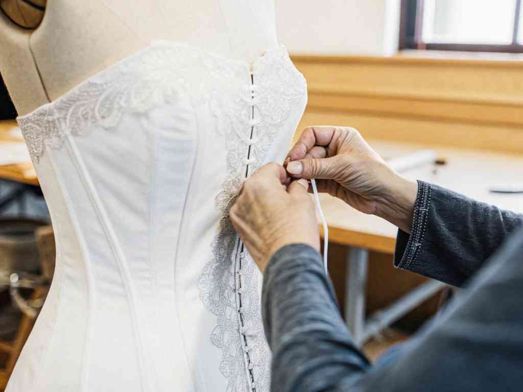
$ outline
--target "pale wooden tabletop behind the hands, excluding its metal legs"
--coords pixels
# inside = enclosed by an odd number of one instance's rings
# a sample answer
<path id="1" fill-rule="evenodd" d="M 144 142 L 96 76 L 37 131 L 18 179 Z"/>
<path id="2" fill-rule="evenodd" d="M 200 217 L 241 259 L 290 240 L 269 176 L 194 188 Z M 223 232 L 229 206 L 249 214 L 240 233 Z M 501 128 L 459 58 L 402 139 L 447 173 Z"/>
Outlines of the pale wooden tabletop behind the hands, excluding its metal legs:
<path id="1" fill-rule="evenodd" d="M 427 148 L 397 142 L 368 140 L 385 159 Z M 445 158 L 444 166 L 428 165 L 405 172 L 411 179 L 435 183 L 494 204 L 502 209 L 523 214 L 523 194 L 491 193 L 488 188 L 499 183 L 523 183 L 523 155 L 496 154 L 465 149 L 435 147 L 438 156 Z M 346 203 L 321 196 L 322 209 L 329 227 L 329 240 L 337 244 L 363 247 L 393 253 L 397 228 L 372 215 L 365 215 Z"/>

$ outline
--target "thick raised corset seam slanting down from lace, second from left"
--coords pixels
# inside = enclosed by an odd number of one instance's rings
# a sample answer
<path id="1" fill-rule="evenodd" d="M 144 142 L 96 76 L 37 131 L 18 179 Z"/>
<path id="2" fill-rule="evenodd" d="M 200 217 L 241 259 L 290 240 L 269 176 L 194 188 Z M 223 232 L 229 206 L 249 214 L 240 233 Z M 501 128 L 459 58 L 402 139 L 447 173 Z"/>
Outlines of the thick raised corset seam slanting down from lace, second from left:
<path id="1" fill-rule="evenodd" d="M 81 155 L 78 152 L 78 149 L 76 147 L 76 143 L 74 141 L 74 137 L 70 134 L 67 134 L 65 136 L 65 142 L 66 145 L 70 148 L 71 151 L 71 157 L 73 158 L 73 162 L 78 169 L 79 178 L 84 184 L 84 187 L 86 188 L 86 192 L 88 194 L 89 199 L 91 200 L 93 207 L 96 211 L 96 214 L 98 215 L 98 219 L 100 221 L 101 226 L 104 229 L 104 233 L 106 235 L 107 242 L 109 243 L 109 246 L 112 250 L 113 257 L 115 257 L 115 260 L 118 264 L 118 269 L 123 281 L 124 288 L 127 293 L 127 299 L 129 302 L 129 310 L 131 315 L 131 320 L 133 324 L 133 335 L 135 339 L 135 348 L 138 351 L 138 367 L 140 372 L 140 382 L 142 386 L 142 390 L 148 389 L 148 384 L 146 377 L 144 375 L 144 354 L 143 354 L 143 339 L 142 339 L 142 333 L 140 330 L 140 327 L 138 325 L 138 315 L 136 314 L 137 311 L 137 302 L 135 300 L 135 294 L 132 289 L 132 282 L 129 276 L 129 271 L 127 270 L 127 264 L 125 262 L 125 257 L 123 256 L 123 252 L 121 250 L 120 245 L 118 244 L 118 238 L 116 237 L 115 233 L 113 232 L 112 225 L 110 224 L 109 217 L 107 216 L 107 213 L 105 211 L 105 208 L 103 204 L 101 203 L 98 193 L 96 191 L 96 187 L 94 186 L 93 181 L 90 179 L 90 176 L 88 174 L 88 171 L 85 167 L 85 164 L 83 162 L 83 159 Z"/>

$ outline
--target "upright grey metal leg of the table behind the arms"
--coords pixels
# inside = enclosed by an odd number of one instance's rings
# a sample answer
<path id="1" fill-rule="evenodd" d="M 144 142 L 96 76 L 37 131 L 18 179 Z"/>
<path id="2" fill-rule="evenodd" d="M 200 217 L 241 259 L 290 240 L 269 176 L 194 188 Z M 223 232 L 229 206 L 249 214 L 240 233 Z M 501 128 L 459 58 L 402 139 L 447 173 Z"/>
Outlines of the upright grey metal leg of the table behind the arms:
<path id="1" fill-rule="evenodd" d="M 356 344 L 362 343 L 365 331 L 365 293 L 369 251 L 349 247 L 347 252 L 347 276 L 345 279 L 345 321 Z"/>

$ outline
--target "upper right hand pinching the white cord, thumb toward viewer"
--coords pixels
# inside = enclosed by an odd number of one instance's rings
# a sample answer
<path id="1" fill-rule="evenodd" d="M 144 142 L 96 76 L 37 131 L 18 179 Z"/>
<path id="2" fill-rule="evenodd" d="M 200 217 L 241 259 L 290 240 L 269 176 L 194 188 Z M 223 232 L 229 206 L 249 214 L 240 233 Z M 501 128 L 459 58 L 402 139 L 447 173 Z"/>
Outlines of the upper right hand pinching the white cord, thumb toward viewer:
<path id="1" fill-rule="evenodd" d="M 292 177 L 315 178 L 320 192 L 410 232 L 417 182 L 397 174 L 354 128 L 306 128 L 286 165 Z"/>

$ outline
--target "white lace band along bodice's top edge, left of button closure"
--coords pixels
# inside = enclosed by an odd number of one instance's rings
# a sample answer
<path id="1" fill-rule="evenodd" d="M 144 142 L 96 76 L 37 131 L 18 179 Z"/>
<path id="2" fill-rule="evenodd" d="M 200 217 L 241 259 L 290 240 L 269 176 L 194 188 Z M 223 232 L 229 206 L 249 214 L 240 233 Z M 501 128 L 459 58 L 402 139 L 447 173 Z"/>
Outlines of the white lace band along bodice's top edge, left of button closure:
<path id="1" fill-rule="evenodd" d="M 158 41 L 17 121 L 38 164 L 46 147 L 61 148 L 68 135 L 113 129 L 124 113 L 173 102 L 180 89 L 217 108 L 246 70 L 248 65 L 240 61 L 184 43 Z"/>

